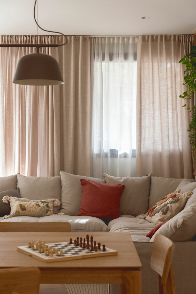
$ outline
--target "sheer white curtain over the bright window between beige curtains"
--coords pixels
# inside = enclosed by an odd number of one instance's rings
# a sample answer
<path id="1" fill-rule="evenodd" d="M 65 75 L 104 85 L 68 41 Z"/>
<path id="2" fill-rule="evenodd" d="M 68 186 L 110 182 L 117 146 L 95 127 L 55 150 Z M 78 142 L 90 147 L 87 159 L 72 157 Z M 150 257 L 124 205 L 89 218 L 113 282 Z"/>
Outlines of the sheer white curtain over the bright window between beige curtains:
<path id="1" fill-rule="evenodd" d="M 134 175 L 136 38 L 94 37 L 90 50 L 91 176 Z"/>

